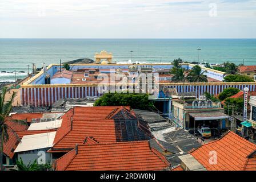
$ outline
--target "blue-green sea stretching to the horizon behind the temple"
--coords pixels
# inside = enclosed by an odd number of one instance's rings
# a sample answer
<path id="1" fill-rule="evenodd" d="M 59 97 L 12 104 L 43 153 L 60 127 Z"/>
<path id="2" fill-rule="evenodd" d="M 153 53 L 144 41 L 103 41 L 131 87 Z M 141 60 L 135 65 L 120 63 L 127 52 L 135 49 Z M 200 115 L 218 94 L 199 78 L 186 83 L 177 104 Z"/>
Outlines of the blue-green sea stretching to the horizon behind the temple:
<path id="1" fill-rule="evenodd" d="M 0 82 L 14 81 L 31 71 L 32 63 L 59 63 L 81 58 L 94 59 L 95 52 L 112 52 L 114 61 L 131 59 L 141 63 L 170 63 L 180 57 L 184 61 L 217 64 L 256 64 L 256 39 L 0 39 Z M 3 73 L 2 71 L 6 71 Z"/>

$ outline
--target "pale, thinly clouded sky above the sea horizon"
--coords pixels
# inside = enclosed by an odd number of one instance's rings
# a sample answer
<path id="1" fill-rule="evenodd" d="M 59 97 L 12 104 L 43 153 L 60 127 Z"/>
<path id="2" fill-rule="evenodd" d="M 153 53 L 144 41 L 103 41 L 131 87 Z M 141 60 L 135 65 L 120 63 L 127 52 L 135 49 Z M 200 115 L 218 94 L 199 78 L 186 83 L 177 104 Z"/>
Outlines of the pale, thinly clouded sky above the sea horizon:
<path id="1" fill-rule="evenodd" d="M 256 38 L 256 0 L 1 0 L 0 38 Z"/>

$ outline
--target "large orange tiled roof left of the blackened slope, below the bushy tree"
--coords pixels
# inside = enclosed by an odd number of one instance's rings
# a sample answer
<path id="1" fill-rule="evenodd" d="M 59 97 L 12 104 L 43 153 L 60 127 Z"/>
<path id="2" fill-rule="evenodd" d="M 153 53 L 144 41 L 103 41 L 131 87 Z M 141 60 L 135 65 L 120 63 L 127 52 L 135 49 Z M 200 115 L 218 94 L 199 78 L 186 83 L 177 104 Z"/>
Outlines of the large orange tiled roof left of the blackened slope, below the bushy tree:
<path id="1" fill-rule="evenodd" d="M 113 114 L 123 106 L 74 107 L 62 116 L 51 151 L 72 150 L 83 144 L 87 137 L 98 143 L 117 142 Z M 125 107 L 130 110 L 130 107 Z M 72 121 L 72 122 L 71 122 Z M 50 151 L 50 152 L 51 152 Z"/>

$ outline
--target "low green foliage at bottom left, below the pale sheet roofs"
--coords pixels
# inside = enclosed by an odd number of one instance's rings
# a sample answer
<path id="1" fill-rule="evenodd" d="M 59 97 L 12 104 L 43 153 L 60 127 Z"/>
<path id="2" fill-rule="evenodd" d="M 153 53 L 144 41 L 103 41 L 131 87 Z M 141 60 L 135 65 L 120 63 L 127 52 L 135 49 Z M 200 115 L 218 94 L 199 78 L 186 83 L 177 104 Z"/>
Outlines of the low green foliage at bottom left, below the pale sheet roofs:
<path id="1" fill-rule="evenodd" d="M 21 158 L 17 160 L 16 164 L 18 171 L 48 171 L 52 168 L 50 164 L 38 164 L 37 160 L 34 160 L 32 164 L 29 162 L 29 164 L 25 165 Z"/>

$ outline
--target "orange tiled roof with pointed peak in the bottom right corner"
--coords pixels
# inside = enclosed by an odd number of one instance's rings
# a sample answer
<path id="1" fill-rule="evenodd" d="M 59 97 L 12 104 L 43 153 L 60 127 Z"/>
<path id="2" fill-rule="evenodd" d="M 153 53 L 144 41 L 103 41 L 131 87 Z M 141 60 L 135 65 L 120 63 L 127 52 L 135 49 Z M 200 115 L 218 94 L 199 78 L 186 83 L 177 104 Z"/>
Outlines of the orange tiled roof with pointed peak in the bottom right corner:
<path id="1" fill-rule="evenodd" d="M 209 163 L 210 151 L 217 152 L 217 164 Z M 256 144 L 229 131 L 221 139 L 192 151 L 191 155 L 209 171 L 242 171 L 245 169 L 248 156 L 254 151 Z"/>

